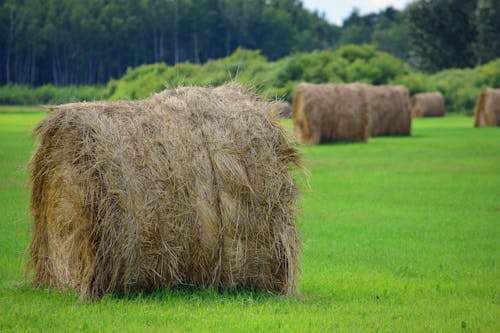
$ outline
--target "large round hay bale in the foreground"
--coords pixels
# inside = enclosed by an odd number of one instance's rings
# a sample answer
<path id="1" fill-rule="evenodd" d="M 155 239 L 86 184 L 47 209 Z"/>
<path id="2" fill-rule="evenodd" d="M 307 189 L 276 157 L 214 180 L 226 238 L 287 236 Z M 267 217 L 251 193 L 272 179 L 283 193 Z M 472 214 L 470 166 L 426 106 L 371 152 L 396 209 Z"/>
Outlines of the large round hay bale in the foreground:
<path id="1" fill-rule="evenodd" d="M 300 158 L 272 108 L 238 85 L 53 107 L 30 161 L 33 282 L 293 294 Z"/>

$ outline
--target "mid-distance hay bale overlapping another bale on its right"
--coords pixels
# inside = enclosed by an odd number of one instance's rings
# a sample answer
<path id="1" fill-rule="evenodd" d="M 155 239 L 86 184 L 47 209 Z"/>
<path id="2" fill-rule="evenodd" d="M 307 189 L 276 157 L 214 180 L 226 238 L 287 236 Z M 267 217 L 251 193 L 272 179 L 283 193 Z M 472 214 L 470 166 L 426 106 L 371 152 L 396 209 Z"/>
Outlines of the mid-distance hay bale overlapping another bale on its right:
<path id="1" fill-rule="evenodd" d="M 368 140 L 368 110 L 361 84 L 309 84 L 295 88 L 293 113 L 298 140 L 306 145 Z"/>

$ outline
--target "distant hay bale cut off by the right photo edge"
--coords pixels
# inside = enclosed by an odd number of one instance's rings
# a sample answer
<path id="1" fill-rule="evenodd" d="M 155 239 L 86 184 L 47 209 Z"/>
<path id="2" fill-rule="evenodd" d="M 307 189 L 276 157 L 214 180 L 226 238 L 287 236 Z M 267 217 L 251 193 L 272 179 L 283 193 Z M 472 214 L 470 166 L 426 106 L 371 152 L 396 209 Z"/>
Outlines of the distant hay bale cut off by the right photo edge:
<path id="1" fill-rule="evenodd" d="M 474 126 L 500 126 L 500 89 L 486 88 L 477 99 Z"/>

